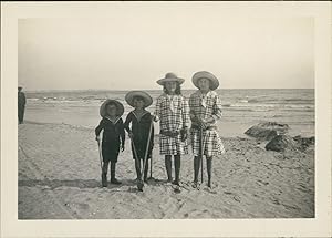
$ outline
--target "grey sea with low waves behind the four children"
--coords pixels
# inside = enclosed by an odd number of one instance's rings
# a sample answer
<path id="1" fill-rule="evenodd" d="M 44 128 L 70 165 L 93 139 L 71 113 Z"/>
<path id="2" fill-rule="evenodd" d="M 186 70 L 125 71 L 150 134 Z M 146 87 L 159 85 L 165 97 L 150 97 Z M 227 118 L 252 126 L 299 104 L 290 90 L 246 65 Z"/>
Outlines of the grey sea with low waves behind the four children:
<path id="1" fill-rule="evenodd" d="M 34 91 L 25 92 L 24 120 L 39 123 L 59 123 L 95 128 L 100 106 L 106 99 L 118 100 L 125 114 L 133 108 L 126 104 L 128 91 Z M 146 90 L 154 100 L 147 110 L 154 112 L 160 90 Z M 195 90 L 183 90 L 189 97 Z M 218 130 L 221 137 L 246 137 L 250 126 L 260 122 L 286 123 L 292 136 L 314 136 L 313 89 L 221 89 L 217 90 L 222 103 L 224 116 Z M 156 132 L 158 125 L 156 124 Z"/>

